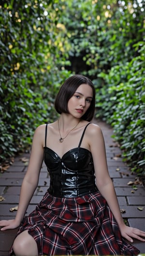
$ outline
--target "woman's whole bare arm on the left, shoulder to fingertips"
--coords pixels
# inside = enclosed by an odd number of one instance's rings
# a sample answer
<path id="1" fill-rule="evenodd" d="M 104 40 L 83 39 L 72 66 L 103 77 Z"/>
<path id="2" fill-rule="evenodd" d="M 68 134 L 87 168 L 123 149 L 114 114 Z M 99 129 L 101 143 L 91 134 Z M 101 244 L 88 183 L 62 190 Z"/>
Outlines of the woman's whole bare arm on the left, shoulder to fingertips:
<path id="1" fill-rule="evenodd" d="M 22 182 L 16 217 L 14 220 L 0 221 L 0 226 L 3 226 L 1 230 L 16 228 L 23 220 L 39 181 L 39 174 L 43 163 L 44 133 L 44 125 L 40 125 L 34 133 L 29 166 Z"/>

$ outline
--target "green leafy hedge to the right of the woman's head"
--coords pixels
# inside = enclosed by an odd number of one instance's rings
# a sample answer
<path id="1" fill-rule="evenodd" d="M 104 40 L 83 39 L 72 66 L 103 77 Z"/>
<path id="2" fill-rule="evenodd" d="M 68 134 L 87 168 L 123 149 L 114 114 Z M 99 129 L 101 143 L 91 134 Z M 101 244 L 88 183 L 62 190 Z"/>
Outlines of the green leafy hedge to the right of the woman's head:
<path id="1" fill-rule="evenodd" d="M 106 81 L 107 93 L 102 88 L 97 116 L 103 112 L 113 125 L 132 171 L 145 175 L 145 45 L 139 42 L 134 47 L 140 55 L 112 67 L 108 75 L 99 75 Z"/>

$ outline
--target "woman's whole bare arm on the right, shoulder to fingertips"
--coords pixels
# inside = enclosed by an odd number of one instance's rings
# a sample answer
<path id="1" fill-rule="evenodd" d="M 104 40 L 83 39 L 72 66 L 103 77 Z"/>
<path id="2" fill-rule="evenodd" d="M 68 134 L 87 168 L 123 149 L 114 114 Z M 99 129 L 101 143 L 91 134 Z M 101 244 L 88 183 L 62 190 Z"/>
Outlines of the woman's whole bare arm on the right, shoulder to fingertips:
<path id="1" fill-rule="evenodd" d="M 102 131 L 100 127 L 95 124 L 92 124 L 90 127 L 90 150 L 93 156 L 97 187 L 102 196 L 106 199 L 120 228 L 121 235 L 131 242 L 133 241 L 131 237 L 140 241 L 145 241 L 145 239 L 141 238 L 141 236 L 145 237 L 145 232 L 128 227 L 124 224 L 114 185 L 108 172 Z"/>

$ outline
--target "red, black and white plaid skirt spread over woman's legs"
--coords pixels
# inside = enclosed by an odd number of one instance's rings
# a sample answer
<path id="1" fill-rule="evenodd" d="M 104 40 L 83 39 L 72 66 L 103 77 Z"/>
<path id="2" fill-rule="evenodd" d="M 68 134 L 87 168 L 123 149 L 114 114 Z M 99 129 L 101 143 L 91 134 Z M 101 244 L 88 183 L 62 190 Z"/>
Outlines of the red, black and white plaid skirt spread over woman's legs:
<path id="1" fill-rule="evenodd" d="M 122 239 L 99 192 L 74 198 L 58 198 L 46 192 L 36 209 L 24 218 L 17 235 L 24 230 L 37 242 L 39 256 L 139 254 Z"/>

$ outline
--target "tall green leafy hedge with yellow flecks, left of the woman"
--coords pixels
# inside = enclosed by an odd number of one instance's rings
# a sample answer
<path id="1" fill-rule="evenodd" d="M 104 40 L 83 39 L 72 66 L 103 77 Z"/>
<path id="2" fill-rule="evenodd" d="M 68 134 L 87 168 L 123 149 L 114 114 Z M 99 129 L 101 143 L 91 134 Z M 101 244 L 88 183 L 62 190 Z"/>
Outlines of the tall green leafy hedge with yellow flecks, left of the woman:
<path id="1" fill-rule="evenodd" d="M 34 129 L 56 118 L 54 98 L 69 73 L 63 70 L 68 45 L 60 45 L 63 31 L 54 5 L 1 3 L 0 161 L 27 149 Z"/>

